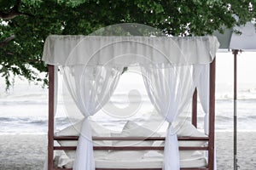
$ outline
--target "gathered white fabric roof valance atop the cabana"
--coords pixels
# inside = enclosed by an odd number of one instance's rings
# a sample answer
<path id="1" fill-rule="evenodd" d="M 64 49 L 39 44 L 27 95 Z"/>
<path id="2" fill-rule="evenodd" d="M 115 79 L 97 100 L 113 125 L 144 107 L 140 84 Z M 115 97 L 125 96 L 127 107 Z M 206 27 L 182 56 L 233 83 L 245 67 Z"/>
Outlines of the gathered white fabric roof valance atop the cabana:
<path id="1" fill-rule="evenodd" d="M 43 60 L 50 65 L 207 64 L 218 50 L 216 37 L 47 37 Z"/>

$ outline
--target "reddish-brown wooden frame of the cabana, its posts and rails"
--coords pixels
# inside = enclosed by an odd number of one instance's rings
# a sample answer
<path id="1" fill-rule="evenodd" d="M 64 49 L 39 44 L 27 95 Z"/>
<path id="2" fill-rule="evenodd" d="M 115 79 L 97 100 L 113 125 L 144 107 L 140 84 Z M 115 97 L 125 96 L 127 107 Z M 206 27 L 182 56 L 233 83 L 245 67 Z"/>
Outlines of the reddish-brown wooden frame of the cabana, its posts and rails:
<path id="1" fill-rule="evenodd" d="M 208 137 L 182 137 L 178 140 L 205 140 L 208 146 L 202 147 L 179 147 L 179 150 L 208 150 L 208 166 L 198 168 L 181 168 L 181 170 L 213 170 L 214 169 L 214 124 L 215 124 L 215 59 L 210 64 L 210 94 L 209 94 L 209 135 Z M 54 150 L 76 150 L 73 146 L 55 146 L 55 140 L 78 140 L 78 136 L 54 136 L 54 103 L 55 103 L 55 66 L 49 65 L 49 132 L 48 132 L 48 170 L 72 170 L 72 168 L 54 167 Z M 197 91 L 193 95 L 192 123 L 197 127 Z M 94 137 L 93 140 L 165 140 L 164 137 Z M 162 146 L 95 146 L 94 150 L 164 150 Z M 111 168 L 112 170 L 127 170 L 125 168 Z M 160 170 L 161 168 L 150 168 Z M 110 170 L 110 168 L 96 168 L 96 170 Z M 139 168 L 132 170 L 149 170 Z"/>

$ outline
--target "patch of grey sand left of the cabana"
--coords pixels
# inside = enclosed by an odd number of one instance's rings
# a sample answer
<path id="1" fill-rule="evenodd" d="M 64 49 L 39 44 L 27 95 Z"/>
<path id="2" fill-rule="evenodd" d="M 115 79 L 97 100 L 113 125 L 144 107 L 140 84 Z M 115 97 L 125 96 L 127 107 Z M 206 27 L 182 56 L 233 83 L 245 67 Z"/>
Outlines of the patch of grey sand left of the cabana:
<path id="1" fill-rule="evenodd" d="M 42 170 L 46 145 L 46 135 L 0 135 L 0 169 Z"/>

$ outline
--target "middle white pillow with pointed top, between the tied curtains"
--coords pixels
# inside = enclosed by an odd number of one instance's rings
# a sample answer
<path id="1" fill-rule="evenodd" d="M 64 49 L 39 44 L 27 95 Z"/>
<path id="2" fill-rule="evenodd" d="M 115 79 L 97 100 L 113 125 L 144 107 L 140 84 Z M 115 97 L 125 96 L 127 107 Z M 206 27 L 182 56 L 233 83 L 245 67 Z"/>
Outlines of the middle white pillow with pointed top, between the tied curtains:
<path id="1" fill-rule="evenodd" d="M 121 133 L 116 134 L 112 133 L 113 137 L 121 136 L 121 137 L 147 137 L 150 136 L 159 136 L 158 133 L 154 133 L 153 131 L 149 130 L 148 128 L 142 127 L 137 125 L 135 122 L 128 121 L 123 127 Z M 154 141 L 115 141 L 113 142 L 113 146 L 151 146 Z M 141 159 L 143 155 L 148 150 L 111 150 L 106 157 L 107 160 L 137 160 Z"/>

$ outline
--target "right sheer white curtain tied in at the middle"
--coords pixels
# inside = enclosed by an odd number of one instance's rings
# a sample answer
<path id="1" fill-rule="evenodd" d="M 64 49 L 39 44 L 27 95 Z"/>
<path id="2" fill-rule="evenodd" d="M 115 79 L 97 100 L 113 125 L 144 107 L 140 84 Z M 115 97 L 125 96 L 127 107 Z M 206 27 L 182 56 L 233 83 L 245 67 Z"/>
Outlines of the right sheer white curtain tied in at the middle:
<path id="1" fill-rule="evenodd" d="M 158 65 L 143 67 L 143 80 L 155 109 L 170 123 L 164 151 L 165 170 L 179 170 L 177 134 L 172 122 L 181 114 L 195 89 L 192 65 Z"/>

